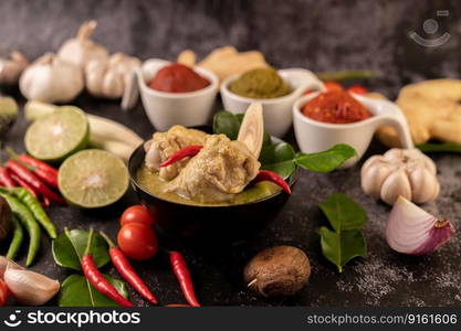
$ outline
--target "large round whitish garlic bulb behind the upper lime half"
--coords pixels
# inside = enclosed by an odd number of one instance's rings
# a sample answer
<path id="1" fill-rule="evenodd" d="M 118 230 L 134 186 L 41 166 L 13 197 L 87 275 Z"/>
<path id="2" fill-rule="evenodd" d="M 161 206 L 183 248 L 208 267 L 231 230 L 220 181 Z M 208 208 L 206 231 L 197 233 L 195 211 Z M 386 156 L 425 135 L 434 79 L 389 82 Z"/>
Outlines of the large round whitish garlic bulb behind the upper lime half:
<path id="1" fill-rule="evenodd" d="M 76 65 L 46 53 L 24 71 L 19 87 L 31 100 L 66 103 L 82 92 L 83 72 Z"/>

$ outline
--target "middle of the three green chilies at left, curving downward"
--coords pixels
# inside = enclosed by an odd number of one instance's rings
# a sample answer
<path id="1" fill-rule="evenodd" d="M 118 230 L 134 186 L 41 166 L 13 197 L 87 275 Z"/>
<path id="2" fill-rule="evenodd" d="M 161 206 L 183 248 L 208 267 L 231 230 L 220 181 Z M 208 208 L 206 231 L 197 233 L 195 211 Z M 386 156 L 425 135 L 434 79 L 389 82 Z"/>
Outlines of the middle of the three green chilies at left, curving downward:
<path id="1" fill-rule="evenodd" d="M 36 252 L 40 247 L 40 235 L 41 229 L 39 223 L 33 217 L 33 214 L 29 209 L 22 204 L 17 197 L 4 193 L 4 191 L 0 191 L 0 195 L 7 200 L 8 204 L 11 207 L 11 211 L 14 215 L 18 216 L 19 221 L 25 227 L 29 233 L 29 250 L 28 250 L 28 259 L 25 260 L 25 265 L 30 266 L 35 258 Z"/>

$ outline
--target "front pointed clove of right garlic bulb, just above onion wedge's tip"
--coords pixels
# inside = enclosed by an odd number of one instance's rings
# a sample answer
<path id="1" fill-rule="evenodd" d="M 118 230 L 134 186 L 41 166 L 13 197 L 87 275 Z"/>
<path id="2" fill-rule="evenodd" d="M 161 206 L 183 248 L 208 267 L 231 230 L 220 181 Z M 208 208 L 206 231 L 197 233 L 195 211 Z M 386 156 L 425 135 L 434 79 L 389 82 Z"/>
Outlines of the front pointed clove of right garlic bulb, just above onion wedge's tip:
<path id="1" fill-rule="evenodd" d="M 395 204 L 399 195 L 411 200 L 411 185 L 404 169 L 398 169 L 387 177 L 381 186 L 380 196 L 387 204 Z"/>

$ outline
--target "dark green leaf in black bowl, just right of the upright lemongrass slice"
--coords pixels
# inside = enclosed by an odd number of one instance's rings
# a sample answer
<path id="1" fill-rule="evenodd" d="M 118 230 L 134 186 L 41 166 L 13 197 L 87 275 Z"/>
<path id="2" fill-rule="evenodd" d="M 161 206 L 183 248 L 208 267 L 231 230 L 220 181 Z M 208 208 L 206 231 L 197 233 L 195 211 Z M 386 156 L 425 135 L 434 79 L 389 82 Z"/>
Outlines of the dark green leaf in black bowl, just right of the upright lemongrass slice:
<path id="1" fill-rule="evenodd" d="M 264 147 L 261 151 L 261 168 L 272 170 L 286 179 L 296 169 L 296 166 L 293 162 L 294 156 L 294 149 L 290 143 L 279 142 Z"/>

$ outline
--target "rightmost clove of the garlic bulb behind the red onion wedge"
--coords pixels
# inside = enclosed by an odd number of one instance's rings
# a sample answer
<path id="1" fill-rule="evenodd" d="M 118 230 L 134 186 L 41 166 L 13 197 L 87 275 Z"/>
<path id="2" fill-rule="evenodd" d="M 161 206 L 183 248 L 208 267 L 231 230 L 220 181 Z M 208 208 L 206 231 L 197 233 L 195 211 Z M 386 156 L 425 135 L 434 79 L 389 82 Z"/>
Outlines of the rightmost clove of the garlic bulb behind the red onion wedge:
<path id="1" fill-rule="evenodd" d="M 430 170 L 417 167 L 408 177 L 412 188 L 412 201 L 416 203 L 426 203 L 437 197 L 440 185 Z"/>

